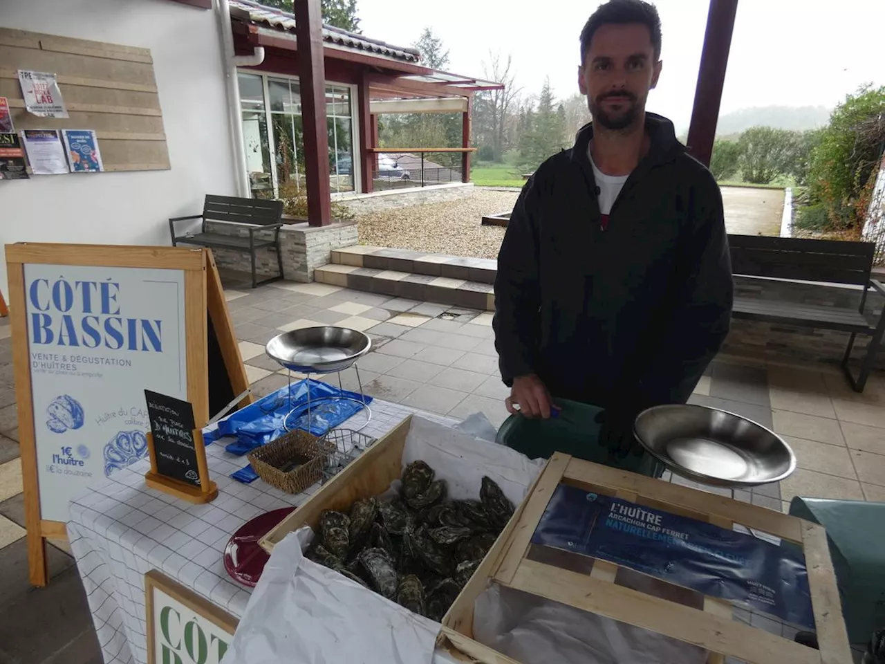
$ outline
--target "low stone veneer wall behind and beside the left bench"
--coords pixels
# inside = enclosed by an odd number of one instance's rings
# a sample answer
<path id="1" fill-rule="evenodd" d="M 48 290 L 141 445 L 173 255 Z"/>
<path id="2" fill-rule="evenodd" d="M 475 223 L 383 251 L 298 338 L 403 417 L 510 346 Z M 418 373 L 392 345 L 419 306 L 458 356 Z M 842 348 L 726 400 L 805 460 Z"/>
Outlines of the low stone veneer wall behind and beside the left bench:
<path id="1" fill-rule="evenodd" d="M 223 235 L 248 237 L 249 230 L 223 221 L 207 221 L 206 230 Z M 256 235 L 273 239 L 272 231 Z M 359 243 L 356 221 L 337 221 L 330 226 L 309 226 L 306 221 L 287 224 L 280 229 L 282 268 L 286 279 L 295 282 L 312 282 L 313 270 L 326 265 L 333 249 L 341 249 Z M 249 251 L 213 249 L 219 267 L 249 273 Z M 273 247 L 258 250 L 257 272 L 267 277 L 278 274 L 276 251 Z"/>

